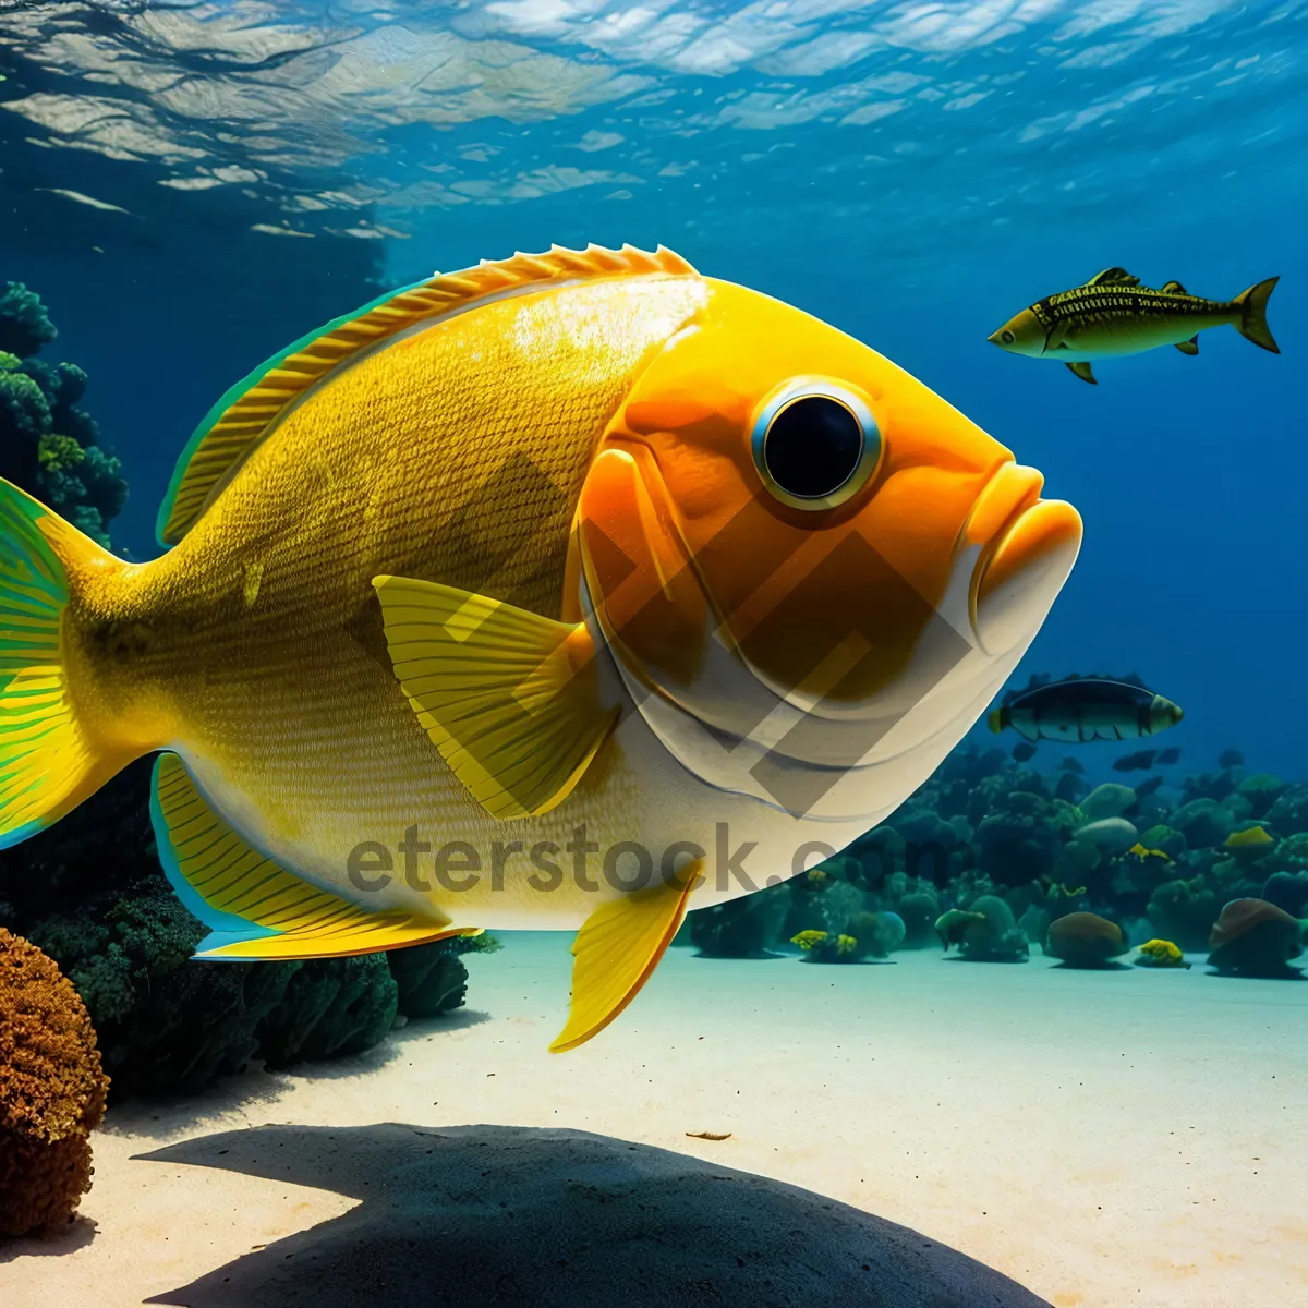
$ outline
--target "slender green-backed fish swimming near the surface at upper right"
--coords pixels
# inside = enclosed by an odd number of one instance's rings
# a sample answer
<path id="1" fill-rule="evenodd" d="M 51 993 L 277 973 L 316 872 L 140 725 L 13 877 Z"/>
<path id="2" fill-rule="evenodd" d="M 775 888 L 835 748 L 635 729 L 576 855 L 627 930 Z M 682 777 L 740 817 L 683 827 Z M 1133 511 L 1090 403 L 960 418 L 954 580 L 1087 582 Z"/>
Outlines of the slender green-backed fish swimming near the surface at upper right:
<path id="1" fill-rule="evenodd" d="M 1160 345 L 1197 354 L 1198 334 L 1207 327 L 1230 324 L 1254 345 L 1279 354 L 1267 327 L 1267 297 L 1279 280 L 1267 277 L 1235 300 L 1203 300 L 1179 281 L 1152 290 L 1125 268 L 1105 268 L 1083 286 L 1037 300 L 986 340 L 1010 354 L 1057 360 L 1091 385 L 1097 385 L 1091 365 L 1101 358 Z"/>

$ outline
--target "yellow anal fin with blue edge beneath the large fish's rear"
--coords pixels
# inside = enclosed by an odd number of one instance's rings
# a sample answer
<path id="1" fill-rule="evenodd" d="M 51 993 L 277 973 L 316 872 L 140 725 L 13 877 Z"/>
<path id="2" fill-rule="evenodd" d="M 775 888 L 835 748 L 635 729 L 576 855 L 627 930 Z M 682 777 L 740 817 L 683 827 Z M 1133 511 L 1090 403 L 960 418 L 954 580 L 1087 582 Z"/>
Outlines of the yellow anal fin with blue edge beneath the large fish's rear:
<path id="1" fill-rule="evenodd" d="M 449 918 L 370 913 L 283 871 L 213 812 L 175 753 L 154 765 L 150 818 L 173 889 L 209 927 L 196 957 L 345 957 L 480 933 Z"/>

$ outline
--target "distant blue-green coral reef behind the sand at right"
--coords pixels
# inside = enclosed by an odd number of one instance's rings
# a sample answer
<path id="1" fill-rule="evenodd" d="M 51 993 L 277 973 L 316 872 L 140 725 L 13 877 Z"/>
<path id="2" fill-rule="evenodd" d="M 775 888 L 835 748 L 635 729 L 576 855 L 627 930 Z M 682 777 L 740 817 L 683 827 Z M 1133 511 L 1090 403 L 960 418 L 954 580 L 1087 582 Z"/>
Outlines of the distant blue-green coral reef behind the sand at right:
<path id="1" fill-rule="evenodd" d="M 793 880 L 688 914 L 679 943 L 857 961 L 883 955 L 865 937 L 884 914 L 904 925 L 893 948 L 939 948 L 937 920 L 960 909 L 988 923 L 956 923 L 964 957 L 1015 961 L 1069 914 L 1096 914 L 1129 944 L 1189 951 L 1210 947 L 1232 900 L 1308 917 L 1308 785 L 1248 773 L 1233 751 L 1176 789 L 1159 774 L 1091 789 L 1069 763 L 1042 773 L 963 744 L 882 827 Z"/>

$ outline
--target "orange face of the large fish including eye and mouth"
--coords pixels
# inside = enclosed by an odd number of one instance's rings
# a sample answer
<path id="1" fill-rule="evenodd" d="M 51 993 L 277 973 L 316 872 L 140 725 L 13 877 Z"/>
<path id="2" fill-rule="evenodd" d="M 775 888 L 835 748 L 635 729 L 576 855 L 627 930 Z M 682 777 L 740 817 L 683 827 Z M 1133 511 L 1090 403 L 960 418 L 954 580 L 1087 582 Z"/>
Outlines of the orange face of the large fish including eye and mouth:
<path id="1" fill-rule="evenodd" d="M 1029 641 L 1075 559 L 1075 510 L 866 345 L 709 285 L 581 504 L 590 596 L 625 666 L 691 702 L 725 650 L 793 705 L 867 717 Z"/>

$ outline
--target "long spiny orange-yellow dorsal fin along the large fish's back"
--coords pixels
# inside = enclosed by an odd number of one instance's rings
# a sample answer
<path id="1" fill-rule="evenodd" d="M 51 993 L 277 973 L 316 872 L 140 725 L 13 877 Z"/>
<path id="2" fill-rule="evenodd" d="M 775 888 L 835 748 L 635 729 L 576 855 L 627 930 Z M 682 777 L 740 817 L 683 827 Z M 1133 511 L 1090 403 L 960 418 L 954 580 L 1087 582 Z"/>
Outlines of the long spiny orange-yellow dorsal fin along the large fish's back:
<path id="1" fill-rule="evenodd" d="M 515 294 L 548 283 L 659 272 L 697 276 L 689 263 L 663 246 L 650 252 L 629 245 L 620 250 L 596 245 L 568 250 L 556 245 L 545 254 L 483 259 L 475 268 L 437 273 L 332 319 L 273 354 L 209 409 L 182 451 L 160 506 L 160 544 L 175 545 L 195 526 L 292 403 L 343 362 L 388 336 L 490 296 Z"/>

